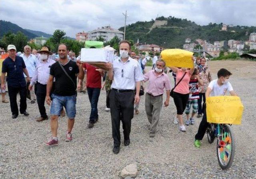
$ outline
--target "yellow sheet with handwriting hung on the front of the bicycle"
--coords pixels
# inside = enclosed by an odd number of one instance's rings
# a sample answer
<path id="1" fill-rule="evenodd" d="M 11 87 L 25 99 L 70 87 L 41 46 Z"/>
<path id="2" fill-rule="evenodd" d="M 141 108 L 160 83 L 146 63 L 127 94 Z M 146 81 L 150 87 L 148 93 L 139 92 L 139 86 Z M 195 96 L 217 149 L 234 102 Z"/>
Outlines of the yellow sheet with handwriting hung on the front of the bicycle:
<path id="1" fill-rule="evenodd" d="M 244 106 L 238 96 L 211 96 L 206 98 L 207 122 L 241 124 Z"/>

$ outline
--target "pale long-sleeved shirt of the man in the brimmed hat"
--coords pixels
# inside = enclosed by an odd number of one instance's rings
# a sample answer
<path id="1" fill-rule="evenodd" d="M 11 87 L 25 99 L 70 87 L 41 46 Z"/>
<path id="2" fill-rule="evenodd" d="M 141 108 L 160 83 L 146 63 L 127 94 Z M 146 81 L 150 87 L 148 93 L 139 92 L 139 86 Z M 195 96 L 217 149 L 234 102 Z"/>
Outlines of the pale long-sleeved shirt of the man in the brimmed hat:
<path id="1" fill-rule="evenodd" d="M 34 85 L 36 81 L 38 81 L 38 83 L 40 84 L 46 85 L 50 75 L 50 67 L 54 63 L 55 61 L 50 58 L 48 58 L 46 62 L 42 62 L 42 61 L 38 62 L 38 66 L 36 67 L 36 70 L 35 70 L 35 75 L 32 78 L 30 85 Z"/>

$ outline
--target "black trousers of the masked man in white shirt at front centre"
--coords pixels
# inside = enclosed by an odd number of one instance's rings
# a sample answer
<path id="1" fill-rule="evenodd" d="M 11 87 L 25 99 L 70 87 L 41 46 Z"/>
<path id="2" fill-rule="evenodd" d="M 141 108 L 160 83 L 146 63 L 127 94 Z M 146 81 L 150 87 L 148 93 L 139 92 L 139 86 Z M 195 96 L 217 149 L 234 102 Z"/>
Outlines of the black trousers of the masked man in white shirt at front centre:
<path id="1" fill-rule="evenodd" d="M 110 91 L 110 113 L 114 146 L 121 144 L 120 121 L 124 130 L 124 140 L 130 140 L 132 118 L 134 115 L 134 92 Z"/>

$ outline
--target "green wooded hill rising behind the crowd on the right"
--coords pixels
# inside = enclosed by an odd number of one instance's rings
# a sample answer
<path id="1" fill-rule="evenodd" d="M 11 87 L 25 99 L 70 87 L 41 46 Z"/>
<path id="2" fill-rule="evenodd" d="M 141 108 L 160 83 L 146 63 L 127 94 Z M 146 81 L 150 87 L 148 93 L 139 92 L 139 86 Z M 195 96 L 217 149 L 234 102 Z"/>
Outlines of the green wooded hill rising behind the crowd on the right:
<path id="1" fill-rule="evenodd" d="M 165 48 L 182 48 L 186 38 L 195 41 L 200 38 L 210 43 L 220 40 L 248 40 L 252 32 L 256 32 L 256 27 L 251 26 L 235 26 L 228 27 L 228 31 L 220 31 L 221 24 L 209 23 L 207 26 L 200 26 L 187 19 L 159 17 L 156 20 L 166 20 L 167 24 L 151 28 L 155 20 L 149 22 L 136 22 L 126 27 L 126 39 L 132 39 L 134 42 L 144 44 L 157 44 Z M 124 27 L 119 30 L 123 31 Z M 235 32 L 231 32 L 234 30 Z M 248 32 L 248 36 L 246 36 Z"/>

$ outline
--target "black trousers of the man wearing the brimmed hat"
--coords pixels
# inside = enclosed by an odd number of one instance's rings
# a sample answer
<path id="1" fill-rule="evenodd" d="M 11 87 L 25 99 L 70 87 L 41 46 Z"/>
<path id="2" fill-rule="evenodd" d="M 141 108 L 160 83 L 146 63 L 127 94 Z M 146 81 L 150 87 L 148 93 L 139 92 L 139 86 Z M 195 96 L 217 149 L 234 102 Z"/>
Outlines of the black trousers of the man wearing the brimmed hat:
<path id="1" fill-rule="evenodd" d="M 46 85 L 37 83 L 36 87 L 36 101 L 38 104 L 40 115 L 41 117 L 47 117 L 46 109 L 44 107 L 44 101 L 46 98 Z"/>

